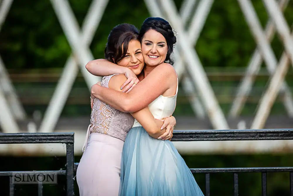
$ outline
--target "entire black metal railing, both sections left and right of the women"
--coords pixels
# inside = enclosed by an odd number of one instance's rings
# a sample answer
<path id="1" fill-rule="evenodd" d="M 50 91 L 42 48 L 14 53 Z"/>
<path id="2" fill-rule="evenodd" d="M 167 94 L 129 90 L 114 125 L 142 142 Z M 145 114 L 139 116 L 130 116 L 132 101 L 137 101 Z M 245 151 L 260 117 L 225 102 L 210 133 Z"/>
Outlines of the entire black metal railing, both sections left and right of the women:
<path id="1" fill-rule="evenodd" d="M 293 129 L 275 130 L 190 130 L 174 131 L 172 141 L 231 141 L 231 140 L 293 140 Z M 0 144 L 15 143 L 66 143 L 67 169 L 58 170 L 59 175 L 67 175 L 67 195 L 74 195 L 74 173 L 78 163 L 74 163 L 74 133 L 0 133 Z M 234 177 L 234 196 L 239 195 L 238 174 L 241 172 L 260 172 L 262 175 L 262 195 L 267 195 L 267 172 L 289 172 L 290 193 L 293 196 L 293 167 L 242 167 L 242 168 L 191 168 L 192 173 L 205 173 L 205 196 L 210 196 L 210 173 L 228 172 Z M 34 171 L 35 172 L 35 171 Z M 50 172 L 50 171 L 47 171 Z M 56 171 L 52 171 L 56 172 Z M 0 172 L 10 176 L 12 172 Z M 13 184 L 10 182 L 11 195 Z M 42 195 L 42 186 L 39 188 Z"/>

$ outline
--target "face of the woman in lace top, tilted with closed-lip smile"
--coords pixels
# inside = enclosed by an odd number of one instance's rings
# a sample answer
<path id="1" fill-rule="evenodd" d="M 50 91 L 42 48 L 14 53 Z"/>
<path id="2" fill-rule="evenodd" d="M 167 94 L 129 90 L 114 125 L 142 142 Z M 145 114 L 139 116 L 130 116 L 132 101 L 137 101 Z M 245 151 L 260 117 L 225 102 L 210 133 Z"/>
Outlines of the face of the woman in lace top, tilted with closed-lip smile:
<path id="1" fill-rule="evenodd" d="M 142 72 L 144 58 L 142 56 L 142 46 L 139 41 L 132 40 L 129 42 L 126 56 L 117 64 L 129 67 L 136 75 L 139 75 Z"/>

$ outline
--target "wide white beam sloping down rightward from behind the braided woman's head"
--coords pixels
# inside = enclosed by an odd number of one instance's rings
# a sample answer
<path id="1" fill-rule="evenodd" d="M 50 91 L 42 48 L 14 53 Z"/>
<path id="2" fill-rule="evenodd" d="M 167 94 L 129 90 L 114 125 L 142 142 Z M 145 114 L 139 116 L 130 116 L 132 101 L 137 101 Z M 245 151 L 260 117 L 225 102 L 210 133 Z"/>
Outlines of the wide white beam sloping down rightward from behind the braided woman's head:
<path id="1" fill-rule="evenodd" d="M 161 0 L 161 4 L 164 5 L 162 9 L 166 12 L 173 28 L 178 31 L 177 44 L 182 52 L 181 54 L 184 60 L 187 62 L 189 73 L 192 73 L 191 79 L 197 86 L 213 127 L 215 129 L 229 129 L 229 125 L 214 95 L 212 87 L 210 86 L 205 70 L 193 48 L 193 44 L 189 41 L 188 35 L 181 24 L 174 2 L 170 0 Z"/>

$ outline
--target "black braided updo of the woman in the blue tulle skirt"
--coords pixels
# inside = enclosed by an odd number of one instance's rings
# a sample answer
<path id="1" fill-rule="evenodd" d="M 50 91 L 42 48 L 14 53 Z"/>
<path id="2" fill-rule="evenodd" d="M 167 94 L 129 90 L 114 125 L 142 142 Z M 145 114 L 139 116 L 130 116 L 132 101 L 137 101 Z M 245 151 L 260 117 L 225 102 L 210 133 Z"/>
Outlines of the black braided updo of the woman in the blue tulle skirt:
<path id="1" fill-rule="evenodd" d="M 142 27 L 139 31 L 139 40 L 142 42 L 142 38 L 144 34 L 149 30 L 155 30 L 161 33 L 167 41 L 168 51 L 165 59 L 165 63 L 170 63 L 171 65 L 174 64 L 174 61 L 171 59 L 171 54 L 173 52 L 173 46 L 176 43 L 176 36 L 173 33 L 171 25 L 165 19 L 159 17 L 149 17 L 145 19 Z"/>

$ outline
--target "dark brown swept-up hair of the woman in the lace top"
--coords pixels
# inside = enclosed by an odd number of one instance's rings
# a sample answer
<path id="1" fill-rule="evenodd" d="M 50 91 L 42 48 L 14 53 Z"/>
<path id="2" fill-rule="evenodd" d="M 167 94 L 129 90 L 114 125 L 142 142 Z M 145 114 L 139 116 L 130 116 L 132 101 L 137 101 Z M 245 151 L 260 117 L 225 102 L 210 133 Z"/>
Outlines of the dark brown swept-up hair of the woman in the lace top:
<path id="1" fill-rule="evenodd" d="M 124 23 L 115 26 L 108 36 L 104 51 L 105 59 L 115 64 L 121 61 L 127 53 L 129 42 L 139 41 L 138 34 L 137 28 L 132 24 Z"/>

